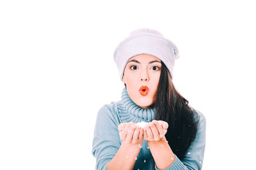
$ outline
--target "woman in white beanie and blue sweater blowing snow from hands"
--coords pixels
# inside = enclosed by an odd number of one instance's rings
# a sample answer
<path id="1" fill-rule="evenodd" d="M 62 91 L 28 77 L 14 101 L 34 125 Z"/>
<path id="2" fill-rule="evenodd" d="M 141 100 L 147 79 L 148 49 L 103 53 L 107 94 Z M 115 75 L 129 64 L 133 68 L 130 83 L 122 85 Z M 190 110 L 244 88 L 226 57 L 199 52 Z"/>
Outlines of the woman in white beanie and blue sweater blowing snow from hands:
<path id="1" fill-rule="evenodd" d="M 122 100 L 100 108 L 93 138 L 96 169 L 201 169 L 205 117 L 172 82 L 179 50 L 152 29 L 117 46 Z M 141 127 L 139 122 L 147 122 Z"/>

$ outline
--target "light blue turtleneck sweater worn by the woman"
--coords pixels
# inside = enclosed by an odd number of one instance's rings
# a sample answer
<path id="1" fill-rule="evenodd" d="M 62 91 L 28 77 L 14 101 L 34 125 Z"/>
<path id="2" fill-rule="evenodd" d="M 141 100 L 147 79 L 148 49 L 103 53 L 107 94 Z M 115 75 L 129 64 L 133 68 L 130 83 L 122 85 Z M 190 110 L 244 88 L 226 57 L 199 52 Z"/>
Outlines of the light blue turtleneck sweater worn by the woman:
<path id="1" fill-rule="evenodd" d="M 205 117 L 200 111 L 198 131 L 196 138 L 186 152 L 186 156 L 181 161 L 175 155 L 173 164 L 166 168 L 171 169 L 201 169 L 205 150 Z M 154 110 L 144 110 L 136 105 L 129 95 L 127 89 L 122 91 L 122 100 L 105 104 L 97 114 L 92 143 L 92 154 L 96 158 L 95 169 L 106 169 L 108 162 L 115 157 L 122 143 L 118 125 L 123 122 L 151 122 L 154 120 Z M 172 146 L 171 146 L 172 148 Z M 124 158 L 125 159 L 125 158 Z M 147 141 L 143 140 L 142 148 L 137 157 L 134 169 L 152 169 L 152 154 L 148 148 Z M 155 165 L 155 169 L 157 166 Z"/>

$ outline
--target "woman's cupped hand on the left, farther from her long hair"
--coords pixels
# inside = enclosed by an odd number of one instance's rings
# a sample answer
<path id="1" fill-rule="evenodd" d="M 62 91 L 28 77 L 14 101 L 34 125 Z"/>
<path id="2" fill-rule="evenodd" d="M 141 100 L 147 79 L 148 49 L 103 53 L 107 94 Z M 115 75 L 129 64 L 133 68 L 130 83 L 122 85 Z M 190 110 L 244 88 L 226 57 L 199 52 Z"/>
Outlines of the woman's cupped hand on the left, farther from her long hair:
<path id="1" fill-rule="evenodd" d="M 118 125 L 120 139 L 126 144 L 140 144 L 143 143 L 143 128 L 135 125 L 134 122 L 122 123 Z"/>

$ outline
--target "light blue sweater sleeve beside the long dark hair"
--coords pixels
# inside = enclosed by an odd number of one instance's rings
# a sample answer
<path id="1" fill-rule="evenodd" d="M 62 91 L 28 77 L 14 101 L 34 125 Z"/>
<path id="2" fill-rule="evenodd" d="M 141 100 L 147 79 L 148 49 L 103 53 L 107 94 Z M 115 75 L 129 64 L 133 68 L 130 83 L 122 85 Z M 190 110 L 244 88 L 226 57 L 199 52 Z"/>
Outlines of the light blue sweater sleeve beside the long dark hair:
<path id="1" fill-rule="evenodd" d="M 195 140 L 189 146 L 188 151 L 184 159 L 180 160 L 175 155 L 175 160 L 170 167 L 167 167 L 164 170 L 200 170 L 202 169 L 202 163 L 204 159 L 204 150 L 205 150 L 205 129 L 206 129 L 206 120 L 205 117 L 200 111 L 197 111 L 200 115 L 200 121 L 198 123 L 198 131 L 196 132 Z M 155 165 L 155 169 L 157 166 Z M 159 169 L 157 169 L 159 170 Z"/>

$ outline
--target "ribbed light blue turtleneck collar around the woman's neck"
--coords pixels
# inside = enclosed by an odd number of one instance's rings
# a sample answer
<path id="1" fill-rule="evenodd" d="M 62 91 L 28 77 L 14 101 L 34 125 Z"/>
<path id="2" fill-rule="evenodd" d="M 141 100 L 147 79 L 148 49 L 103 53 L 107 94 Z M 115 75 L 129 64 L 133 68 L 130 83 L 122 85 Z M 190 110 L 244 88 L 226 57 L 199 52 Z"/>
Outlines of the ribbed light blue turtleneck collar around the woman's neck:
<path id="1" fill-rule="evenodd" d="M 143 109 L 129 97 L 126 87 L 122 91 L 122 100 L 117 103 L 118 113 L 122 122 L 151 122 L 154 120 L 154 109 Z"/>

